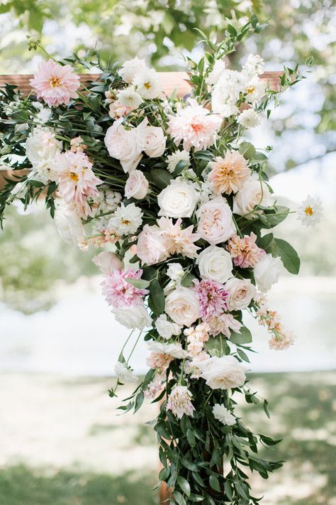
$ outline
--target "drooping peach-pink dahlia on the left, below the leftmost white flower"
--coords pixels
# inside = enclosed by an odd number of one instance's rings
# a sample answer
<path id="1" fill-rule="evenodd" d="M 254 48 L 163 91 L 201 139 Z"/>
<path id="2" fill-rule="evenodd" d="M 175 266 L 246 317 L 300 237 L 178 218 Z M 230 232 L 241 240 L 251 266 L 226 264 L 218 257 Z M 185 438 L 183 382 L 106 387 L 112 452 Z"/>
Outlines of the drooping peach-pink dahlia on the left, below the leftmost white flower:
<path id="1" fill-rule="evenodd" d="M 74 207 L 81 217 L 91 215 L 88 197 L 98 195 L 97 185 L 102 181 L 94 175 L 92 163 L 86 154 L 72 151 L 55 156 L 58 190 L 65 202 Z"/>

